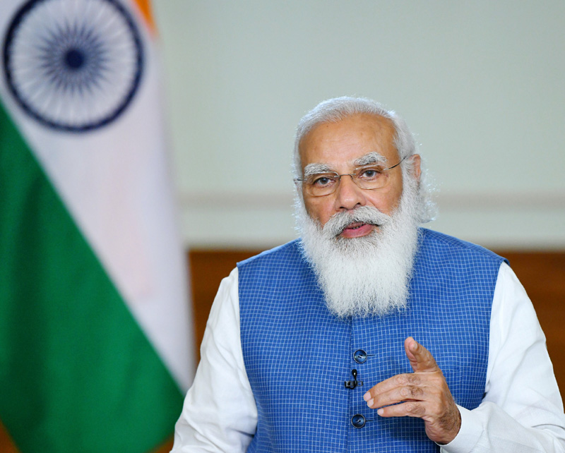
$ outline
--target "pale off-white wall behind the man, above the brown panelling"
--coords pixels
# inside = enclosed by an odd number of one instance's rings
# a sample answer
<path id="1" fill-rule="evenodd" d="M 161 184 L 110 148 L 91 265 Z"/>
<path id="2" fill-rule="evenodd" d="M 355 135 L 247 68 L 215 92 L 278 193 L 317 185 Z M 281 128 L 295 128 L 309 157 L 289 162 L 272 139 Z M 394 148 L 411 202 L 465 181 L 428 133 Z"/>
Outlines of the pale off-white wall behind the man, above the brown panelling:
<path id="1" fill-rule="evenodd" d="M 299 118 L 362 95 L 396 109 L 439 186 L 430 227 L 565 248 L 565 2 L 153 2 L 187 246 L 295 237 Z"/>

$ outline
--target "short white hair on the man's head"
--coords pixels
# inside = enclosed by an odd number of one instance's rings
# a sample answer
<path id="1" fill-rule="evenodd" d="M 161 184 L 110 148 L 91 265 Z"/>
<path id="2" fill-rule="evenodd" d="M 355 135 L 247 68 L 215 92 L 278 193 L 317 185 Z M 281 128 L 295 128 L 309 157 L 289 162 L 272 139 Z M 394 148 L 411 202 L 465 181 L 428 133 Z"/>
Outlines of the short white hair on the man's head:
<path id="1" fill-rule="evenodd" d="M 403 159 L 400 168 L 402 169 L 403 181 L 406 178 L 412 178 L 414 162 L 410 156 L 416 154 L 416 143 L 408 124 L 402 119 L 396 111 L 387 110 L 379 102 L 364 97 L 334 97 L 320 102 L 314 109 L 311 109 L 306 115 L 300 119 L 295 138 L 295 150 L 292 163 L 292 173 L 295 180 L 302 178 L 302 164 L 300 162 L 300 143 L 302 138 L 307 135 L 313 128 L 321 123 L 338 123 L 344 119 L 357 114 L 369 114 L 373 116 L 382 116 L 390 119 L 395 129 L 394 145 L 400 159 Z M 421 223 L 430 222 L 436 216 L 436 205 L 432 198 L 433 188 L 426 181 L 427 171 L 422 169 L 420 176 L 420 184 L 418 187 L 418 210 L 417 220 Z M 302 200 L 302 186 L 297 183 L 297 192 L 299 200 Z"/>

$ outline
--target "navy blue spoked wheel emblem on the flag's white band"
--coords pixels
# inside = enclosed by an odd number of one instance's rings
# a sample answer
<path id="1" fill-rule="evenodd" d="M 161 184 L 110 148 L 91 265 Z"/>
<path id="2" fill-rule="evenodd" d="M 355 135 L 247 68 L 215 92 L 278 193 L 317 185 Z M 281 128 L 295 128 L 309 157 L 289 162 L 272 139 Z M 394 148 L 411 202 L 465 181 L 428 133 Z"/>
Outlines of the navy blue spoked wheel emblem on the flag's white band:
<path id="1" fill-rule="evenodd" d="M 63 131 L 114 121 L 143 69 L 141 37 L 117 0 L 29 0 L 13 17 L 3 51 L 20 107 Z"/>

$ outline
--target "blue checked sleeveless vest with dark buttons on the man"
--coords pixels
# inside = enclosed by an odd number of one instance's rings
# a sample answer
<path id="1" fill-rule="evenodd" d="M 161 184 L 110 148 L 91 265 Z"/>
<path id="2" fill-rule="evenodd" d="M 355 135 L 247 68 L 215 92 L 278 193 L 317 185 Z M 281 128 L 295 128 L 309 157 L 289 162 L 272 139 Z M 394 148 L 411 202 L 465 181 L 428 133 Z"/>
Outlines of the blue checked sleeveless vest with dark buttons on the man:
<path id="1" fill-rule="evenodd" d="M 404 351 L 412 336 L 436 358 L 457 404 L 477 407 L 502 260 L 421 229 L 408 308 L 345 320 L 326 308 L 299 241 L 240 262 L 242 351 L 258 410 L 248 452 L 439 451 L 420 418 L 380 418 L 363 394 L 412 372 Z M 345 385 L 352 370 L 355 387 Z"/>

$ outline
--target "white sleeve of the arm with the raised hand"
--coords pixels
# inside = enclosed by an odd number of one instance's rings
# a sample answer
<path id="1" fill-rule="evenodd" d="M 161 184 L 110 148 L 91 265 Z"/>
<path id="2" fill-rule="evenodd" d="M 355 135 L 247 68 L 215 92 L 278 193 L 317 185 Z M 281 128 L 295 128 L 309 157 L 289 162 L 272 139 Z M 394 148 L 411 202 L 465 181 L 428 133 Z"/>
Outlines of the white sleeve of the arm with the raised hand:
<path id="1" fill-rule="evenodd" d="M 565 452 L 565 416 L 545 335 L 523 286 L 503 263 L 494 290 L 482 403 L 459 408 L 445 453 Z"/>

